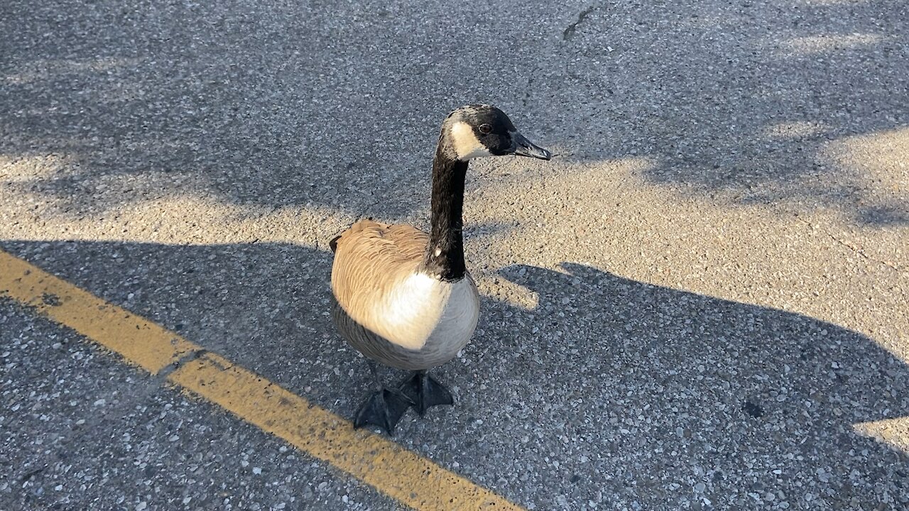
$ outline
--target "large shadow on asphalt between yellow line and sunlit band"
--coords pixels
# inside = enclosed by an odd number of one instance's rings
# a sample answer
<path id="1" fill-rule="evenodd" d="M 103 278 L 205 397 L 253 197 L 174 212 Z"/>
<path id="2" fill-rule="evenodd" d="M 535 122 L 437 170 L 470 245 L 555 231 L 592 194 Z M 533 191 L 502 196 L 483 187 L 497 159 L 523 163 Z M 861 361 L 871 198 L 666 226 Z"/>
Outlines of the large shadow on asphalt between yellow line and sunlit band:
<path id="1" fill-rule="evenodd" d="M 341 416 L 371 386 L 331 324 L 327 252 L 0 245 Z M 909 366 L 873 339 L 591 266 L 499 275 L 484 278 L 520 287 L 484 297 L 474 342 L 437 369 L 456 406 L 405 416 L 395 441 L 407 448 L 545 509 L 909 499 L 909 457 L 854 430 L 909 416 Z M 514 305 L 522 288 L 535 306 Z"/>

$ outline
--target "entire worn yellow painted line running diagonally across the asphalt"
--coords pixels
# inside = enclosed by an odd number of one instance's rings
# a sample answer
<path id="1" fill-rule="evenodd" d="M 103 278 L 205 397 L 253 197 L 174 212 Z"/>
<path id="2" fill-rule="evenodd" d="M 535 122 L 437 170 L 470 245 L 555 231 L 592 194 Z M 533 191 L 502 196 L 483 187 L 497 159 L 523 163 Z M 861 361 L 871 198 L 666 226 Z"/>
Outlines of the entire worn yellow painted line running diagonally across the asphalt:
<path id="1" fill-rule="evenodd" d="M 0 250 L 0 296 L 33 306 L 153 375 L 203 350 L 141 316 L 105 302 Z M 415 509 L 520 510 L 385 436 L 355 430 L 341 416 L 205 353 L 167 379 Z"/>

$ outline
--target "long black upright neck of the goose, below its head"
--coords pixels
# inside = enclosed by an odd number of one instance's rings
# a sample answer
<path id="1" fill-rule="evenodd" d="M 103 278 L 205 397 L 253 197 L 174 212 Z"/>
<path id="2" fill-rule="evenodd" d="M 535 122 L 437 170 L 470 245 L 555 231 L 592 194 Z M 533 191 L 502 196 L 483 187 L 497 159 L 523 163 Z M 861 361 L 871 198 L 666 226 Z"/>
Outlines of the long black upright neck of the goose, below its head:
<path id="1" fill-rule="evenodd" d="M 464 236 L 461 212 L 464 208 L 464 176 L 467 162 L 439 141 L 433 160 L 432 232 L 423 258 L 425 270 L 442 280 L 464 278 Z"/>

